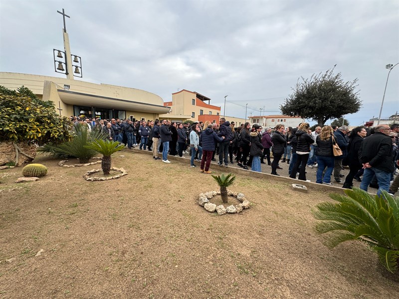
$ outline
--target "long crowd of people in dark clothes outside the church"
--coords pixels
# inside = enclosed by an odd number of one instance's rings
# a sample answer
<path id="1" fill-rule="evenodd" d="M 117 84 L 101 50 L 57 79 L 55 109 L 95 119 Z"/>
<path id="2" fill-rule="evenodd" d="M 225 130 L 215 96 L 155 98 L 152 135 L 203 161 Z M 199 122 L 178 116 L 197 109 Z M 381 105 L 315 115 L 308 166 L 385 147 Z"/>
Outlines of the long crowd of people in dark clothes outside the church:
<path id="1" fill-rule="evenodd" d="M 317 168 L 316 183 L 332 185 L 333 176 L 334 182 L 342 183 L 343 188 L 352 188 L 353 180 L 357 180 L 363 190 L 367 191 L 369 186 L 378 188 L 377 194 L 382 190 L 395 194 L 399 189 L 399 176 L 394 179 L 399 168 L 398 124 L 372 129 L 360 126 L 352 131 L 347 126 L 318 126 L 312 132 L 308 123 L 300 123 L 297 128 L 280 124 L 263 131 L 261 126 L 249 123 L 236 128 L 234 122 L 224 118 L 220 118 L 219 124 L 130 119 L 109 122 L 76 117 L 72 121 L 75 125 L 87 125 L 88 130 L 101 130 L 110 140 L 129 149 L 150 150 L 156 160 L 161 159 L 158 153 L 162 152 L 165 163 L 171 162 L 168 155 L 189 154 L 190 166 L 197 167 L 194 161 L 200 161 L 200 172 L 204 173 L 211 173 L 210 163 L 218 155 L 219 166 L 236 162 L 243 169 L 250 167 L 260 172 L 261 164 L 267 163 L 271 174 L 279 175 L 277 169 L 283 169 L 281 163 L 287 163 L 289 177 L 299 180 L 310 181 L 306 178 L 307 170 Z M 338 153 L 333 150 L 336 146 L 341 150 Z M 350 170 L 346 176 L 342 173 L 344 166 Z"/>

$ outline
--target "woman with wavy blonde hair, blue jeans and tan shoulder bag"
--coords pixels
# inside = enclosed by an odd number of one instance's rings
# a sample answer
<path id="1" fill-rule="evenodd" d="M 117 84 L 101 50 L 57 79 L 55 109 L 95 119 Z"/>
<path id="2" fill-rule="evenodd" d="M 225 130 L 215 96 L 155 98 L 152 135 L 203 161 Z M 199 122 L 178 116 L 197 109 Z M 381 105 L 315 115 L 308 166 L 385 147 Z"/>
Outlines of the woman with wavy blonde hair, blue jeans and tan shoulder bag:
<path id="1" fill-rule="evenodd" d="M 332 185 L 331 174 L 334 170 L 334 153 L 333 153 L 333 134 L 334 130 L 331 126 L 324 126 L 321 133 L 316 137 L 316 161 L 317 173 L 316 183 Z M 323 171 L 327 167 L 323 176 Z"/>

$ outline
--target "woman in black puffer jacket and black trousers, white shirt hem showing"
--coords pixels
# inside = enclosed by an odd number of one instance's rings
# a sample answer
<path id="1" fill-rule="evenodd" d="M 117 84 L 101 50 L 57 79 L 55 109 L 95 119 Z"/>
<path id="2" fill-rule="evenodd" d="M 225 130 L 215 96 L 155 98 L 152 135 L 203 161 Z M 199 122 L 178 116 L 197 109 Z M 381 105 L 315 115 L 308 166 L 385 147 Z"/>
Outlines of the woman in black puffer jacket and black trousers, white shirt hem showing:
<path id="1" fill-rule="evenodd" d="M 309 124 L 301 123 L 296 131 L 295 135 L 298 140 L 296 146 L 296 154 L 297 160 L 294 164 L 294 167 L 291 170 L 290 177 L 296 178 L 296 172 L 298 171 L 299 165 L 301 168 L 299 169 L 298 179 L 306 181 L 306 162 L 309 158 L 310 153 L 310 145 L 314 143 L 314 139 L 308 134 Z"/>

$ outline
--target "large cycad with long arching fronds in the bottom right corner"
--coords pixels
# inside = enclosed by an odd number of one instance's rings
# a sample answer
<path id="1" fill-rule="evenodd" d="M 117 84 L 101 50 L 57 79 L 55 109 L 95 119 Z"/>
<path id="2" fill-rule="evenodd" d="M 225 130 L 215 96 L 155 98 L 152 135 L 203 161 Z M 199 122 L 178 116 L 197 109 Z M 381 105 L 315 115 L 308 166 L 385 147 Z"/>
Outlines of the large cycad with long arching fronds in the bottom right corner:
<path id="1" fill-rule="evenodd" d="M 377 252 L 388 271 L 398 270 L 399 197 L 387 191 L 373 196 L 359 188 L 344 194 L 330 194 L 338 203 L 322 202 L 313 211 L 316 231 L 326 234 L 326 245 L 333 248 L 348 240 L 359 240 Z"/>

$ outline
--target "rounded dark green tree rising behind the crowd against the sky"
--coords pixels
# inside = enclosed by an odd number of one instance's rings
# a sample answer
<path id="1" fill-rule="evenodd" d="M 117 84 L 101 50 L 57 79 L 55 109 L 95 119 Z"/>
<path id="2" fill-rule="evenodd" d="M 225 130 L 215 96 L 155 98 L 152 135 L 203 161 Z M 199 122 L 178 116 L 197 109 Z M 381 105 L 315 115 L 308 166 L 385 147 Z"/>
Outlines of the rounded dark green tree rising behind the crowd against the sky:
<path id="1" fill-rule="evenodd" d="M 301 116 L 323 126 L 327 120 L 358 112 L 362 106 L 359 91 L 355 91 L 358 79 L 344 82 L 341 73 L 334 74 L 334 68 L 298 79 L 293 93 L 280 105 L 282 114 Z"/>

